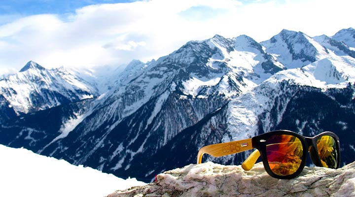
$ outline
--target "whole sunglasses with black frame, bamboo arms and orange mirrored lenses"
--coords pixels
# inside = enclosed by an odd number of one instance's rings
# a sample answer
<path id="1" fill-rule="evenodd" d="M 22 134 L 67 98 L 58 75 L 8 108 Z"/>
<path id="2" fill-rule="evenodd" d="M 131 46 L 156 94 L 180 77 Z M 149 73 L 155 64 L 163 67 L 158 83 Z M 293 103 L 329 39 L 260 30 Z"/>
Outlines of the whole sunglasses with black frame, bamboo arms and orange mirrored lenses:
<path id="1" fill-rule="evenodd" d="M 327 131 L 315 137 L 305 137 L 286 130 L 204 146 L 198 152 L 197 164 L 201 164 L 204 154 L 221 157 L 253 148 L 256 150 L 243 162 L 243 169 L 250 170 L 261 156 L 266 172 L 279 179 L 290 179 L 299 175 L 306 164 L 307 152 L 317 166 L 336 169 L 340 164 L 340 142 L 335 133 Z"/>

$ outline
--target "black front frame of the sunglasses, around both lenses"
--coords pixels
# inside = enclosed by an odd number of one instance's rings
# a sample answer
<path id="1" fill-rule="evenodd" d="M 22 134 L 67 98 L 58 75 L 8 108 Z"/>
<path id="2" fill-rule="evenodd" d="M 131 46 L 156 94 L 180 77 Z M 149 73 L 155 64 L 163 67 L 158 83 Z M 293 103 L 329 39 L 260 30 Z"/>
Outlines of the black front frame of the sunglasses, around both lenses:
<path id="1" fill-rule="evenodd" d="M 267 155 L 266 155 L 267 140 L 271 136 L 278 135 L 278 134 L 286 134 L 286 135 L 295 136 L 302 143 L 303 154 L 302 154 L 302 158 L 301 158 L 301 164 L 300 164 L 299 168 L 297 169 L 297 171 L 295 171 L 293 174 L 280 176 L 280 175 L 275 174 L 269 166 L 269 162 L 267 160 Z M 335 140 L 335 146 L 336 146 L 336 151 L 337 151 L 337 158 L 336 158 L 337 159 L 337 166 L 336 166 L 336 168 L 338 168 L 340 165 L 340 141 L 339 141 L 339 137 L 335 133 L 330 132 L 330 131 L 322 132 L 314 137 L 305 137 L 305 136 L 300 135 L 296 132 L 287 131 L 287 130 L 270 131 L 270 132 L 266 132 L 266 133 L 252 137 L 251 141 L 252 141 L 252 147 L 256 148 L 260 152 L 260 156 L 261 156 L 261 160 L 264 164 L 264 168 L 270 176 L 272 176 L 274 178 L 278 178 L 278 179 L 291 179 L 291 178 L 298 176 L 301 173 L 301 171 L 303 170 L 303 168 L 306 164 L 306 160 L 307 160 L 307 152 L 309 151 L 310 147 L 311 147 L 310 156 L 311 156 L 312 162 L 316 166 L 322 167 L 322 164 L 320 162 L 320 156 L 318 154 L 317 140 L 321 136 L 324 136 L 324 135 L 332 136 Z"/>

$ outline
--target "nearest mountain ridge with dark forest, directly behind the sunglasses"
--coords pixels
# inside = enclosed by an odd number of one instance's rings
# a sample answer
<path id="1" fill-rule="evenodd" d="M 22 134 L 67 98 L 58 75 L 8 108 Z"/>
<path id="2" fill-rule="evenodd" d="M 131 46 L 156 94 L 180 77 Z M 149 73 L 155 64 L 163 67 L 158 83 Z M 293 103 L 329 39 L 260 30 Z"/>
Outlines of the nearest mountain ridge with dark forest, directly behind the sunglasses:
<path id="1" fill-rule="evenodd" d="M 355 73 L 354 63 L 353 59 L 346 72 Z M 136 173 L 195 163 L 196 153 L 202 146 L 247 139 L 280 129 L 299 132 L 305 136 L 334 131 L 342 139 L 341 144 L 344 147 L 342 164 L 353 162 L 355 158 L 351 155 L 354 155 L 355 149 L 352 148 L 353 140 L 347 135 L 355 135 L 355 77 L 348 77 L 344 72 L 337 71 L 338 67 L 345 70 L 343 66 L 341 61 L 330 64 L 327 60 L 320 60 L 303 68 L 276 73 L 259 86 L 231 99 L 227 105 L 209 114 L 196 125 L 181 131 L 154 156 L 141 155 L 133 163 L 138 170 Z M 348 82 L 343 82 L 341 76 L 347 77 Z M 326 79 L 328 83 L 320 79 Z M 172 153 L 173 158 L 170 157 Z M 241 164 L 249 153 L 221 158 L 205 156 L 204 161 Z M 144 162 L 139 163 L 139 160 Z M 154 161 L 160 161 L 158 166 L 150 167 Z M 160 173 L 158 170 L 153 172 Z"/>

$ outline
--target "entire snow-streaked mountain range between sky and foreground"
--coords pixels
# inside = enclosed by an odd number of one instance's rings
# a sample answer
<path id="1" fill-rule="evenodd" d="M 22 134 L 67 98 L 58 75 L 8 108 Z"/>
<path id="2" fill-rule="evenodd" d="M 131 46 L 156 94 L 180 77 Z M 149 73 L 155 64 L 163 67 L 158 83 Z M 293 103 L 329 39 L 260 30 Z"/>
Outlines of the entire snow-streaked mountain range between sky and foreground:
<path id="1" fill-rule="evenodd" d="M 278 129 L 334 131 L 350 163 L 355 59 L 328 38 L 284 30 L 262 43 L 246 35 L 190 41 L 157 61 L 132 61 L 102 95 L 76 71 L 30 62 L 0 80 L 0 143 L 150 180 L 195 163 L 208 144 Z M 240 164 L 249 153 L 204 161 Z"/>

